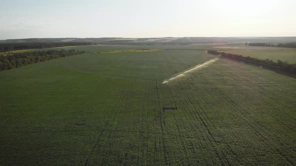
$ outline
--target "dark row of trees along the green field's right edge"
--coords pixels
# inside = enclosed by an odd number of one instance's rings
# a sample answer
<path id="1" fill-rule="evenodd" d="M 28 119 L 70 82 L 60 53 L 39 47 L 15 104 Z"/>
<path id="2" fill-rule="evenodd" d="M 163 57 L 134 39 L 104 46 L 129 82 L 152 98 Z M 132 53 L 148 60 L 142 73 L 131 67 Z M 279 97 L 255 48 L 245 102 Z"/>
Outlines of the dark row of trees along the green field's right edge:
<path id="1" fill-rule="evenodd" d="M 279 71 L 285 71 L 285 72 L 296 74 L 296 64 L 289 64 L 286 61 L 283 62 L 279 59 L 277 60 L 277 62 L 274 62 L 273 60 L 269 60 L 268 58 L 263 60 L 263 59 L 257 59 L 257 58 L 250 57 L 250 56 L 242 56 L 242 55 L 238 55 L 238 54 L 219 52 L 217 50 L 208 50 L 208 53 L 221 55 L 223 57 L 227 57 L 227 58 L 231 58 L 231 59 L 252 62 L 252 63 L 259 64 L 259 65 L 267 66 L 267 67 L 270 67 L 273 69 L 277 69 Z"/>

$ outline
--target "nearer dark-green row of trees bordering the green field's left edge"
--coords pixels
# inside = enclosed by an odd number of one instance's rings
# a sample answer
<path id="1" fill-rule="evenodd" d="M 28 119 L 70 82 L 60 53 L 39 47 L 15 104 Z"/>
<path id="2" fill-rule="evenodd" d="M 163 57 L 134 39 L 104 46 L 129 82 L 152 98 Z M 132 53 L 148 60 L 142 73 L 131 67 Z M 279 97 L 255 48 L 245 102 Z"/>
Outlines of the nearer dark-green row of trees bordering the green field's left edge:
<path id="1" fill-rule="evenodd" d="M 84 53 L 75 49 L 61 50 L 41 50 L 34 52 L 10 53 L 0 55 L 0 71 L 20 67 L 27 64 L 38 63 L 41 61 L 56 59 L 59 57 L 72 56 Z"/>

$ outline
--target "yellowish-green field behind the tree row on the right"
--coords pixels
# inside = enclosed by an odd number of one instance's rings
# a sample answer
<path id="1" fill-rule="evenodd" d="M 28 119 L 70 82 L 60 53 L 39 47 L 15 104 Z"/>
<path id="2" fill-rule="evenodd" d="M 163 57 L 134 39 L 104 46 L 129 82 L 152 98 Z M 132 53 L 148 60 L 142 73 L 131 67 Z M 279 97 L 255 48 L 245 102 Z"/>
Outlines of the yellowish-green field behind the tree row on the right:
<path id="1" fill-rule="evenodd" d="M 243 56 L 251 56 L 259 59 L 270 59 L 277 61 L 287 61 L 288 63 L 296 63 L 296 49 L 255 49 L 255 50 L 227 50 L 232 54 Z"/>

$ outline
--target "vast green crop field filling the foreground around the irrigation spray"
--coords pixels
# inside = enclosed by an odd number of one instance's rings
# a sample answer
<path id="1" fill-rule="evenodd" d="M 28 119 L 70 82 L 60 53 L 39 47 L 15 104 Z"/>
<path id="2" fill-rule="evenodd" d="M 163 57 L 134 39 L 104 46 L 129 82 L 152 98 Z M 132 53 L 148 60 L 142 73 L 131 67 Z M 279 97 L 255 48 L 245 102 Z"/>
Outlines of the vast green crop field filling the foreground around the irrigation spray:
<path id="1" fill-rule="evenodd" d="M 213 45 L 78 46 L 0 72 L 0 163 L 295 165 L 296 79 L 224 58 Z M 173 109 L 174 108 L 174 109 Z"/>

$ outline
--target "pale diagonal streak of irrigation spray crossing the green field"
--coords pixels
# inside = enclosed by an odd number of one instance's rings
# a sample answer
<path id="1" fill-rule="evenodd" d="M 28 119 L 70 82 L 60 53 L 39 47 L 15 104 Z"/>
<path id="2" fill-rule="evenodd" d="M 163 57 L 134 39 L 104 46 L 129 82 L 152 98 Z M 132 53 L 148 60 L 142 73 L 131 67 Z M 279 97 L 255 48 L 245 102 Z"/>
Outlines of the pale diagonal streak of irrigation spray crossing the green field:
<path id="1" fill-rule="evenodd" d="M 171 80 L 178 79 L 178 78 L 181 78 L 181 77 L 183 77 L 183 76 L 186 76 L 188 73 L 190 73 L 190 72 L 192 72 L 192 71 L 200 70 L 200 69 L 202 69 L 202 68 L 208 66 L 209 64 L 212 64 L 213 62 L 217 61 L 218 59 L 219 59 L 219 57 L 217 56 L 217 57 L 212 58 L 212 59 L 210 59 L 210 60 L 207 60 L 207 61 L 205 61 L 205 62 L 203 62 L 203 63 L 201 63 L 201 64 L 198 64 L 198 65 L 196 65 L 196 66 L 194 66 L 194 67 L 188 68 L 188 69 L 186 69 L 185 71 L 179 72 L 179 73 L 177 73 L 177 74 L 171 76 L 169 79 L 165 79 L 165 80 L 163 81 L 163 84 L 168 83 L 168 82 L 170 82 Z"/>

